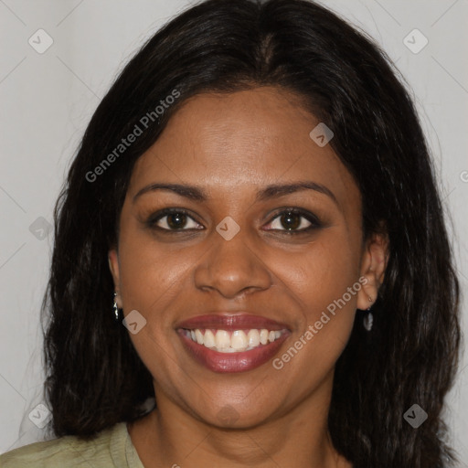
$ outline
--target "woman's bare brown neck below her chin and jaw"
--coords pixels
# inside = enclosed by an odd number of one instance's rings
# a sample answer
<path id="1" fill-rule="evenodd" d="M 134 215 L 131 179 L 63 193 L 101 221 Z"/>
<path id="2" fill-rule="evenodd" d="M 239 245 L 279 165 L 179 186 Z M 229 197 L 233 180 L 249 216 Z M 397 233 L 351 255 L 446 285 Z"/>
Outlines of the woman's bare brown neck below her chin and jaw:
<path id="1" fill-rule="evenodd" d="M 200 420 L 156 391 L 157 410 L 129 425 L 145 468 L 158 466 L 251 466 L 337 468 L 349 466 L 333 448 L 327 430 L 330 381 L 293 408 L 255 427 L 222 429 Z"/>

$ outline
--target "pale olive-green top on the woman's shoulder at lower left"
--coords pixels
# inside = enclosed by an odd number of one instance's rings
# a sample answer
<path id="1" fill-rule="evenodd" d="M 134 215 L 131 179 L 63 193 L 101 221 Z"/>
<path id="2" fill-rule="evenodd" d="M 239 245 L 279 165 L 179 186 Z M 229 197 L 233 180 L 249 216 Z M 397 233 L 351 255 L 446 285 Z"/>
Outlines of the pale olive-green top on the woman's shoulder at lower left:
<path id="1" fill-rule="evenodd" d="M 126 422 L 101 431 L 92 441 L 64 436 L 19 447 L 0 455 L 1 468 L 144 468 Z"/>

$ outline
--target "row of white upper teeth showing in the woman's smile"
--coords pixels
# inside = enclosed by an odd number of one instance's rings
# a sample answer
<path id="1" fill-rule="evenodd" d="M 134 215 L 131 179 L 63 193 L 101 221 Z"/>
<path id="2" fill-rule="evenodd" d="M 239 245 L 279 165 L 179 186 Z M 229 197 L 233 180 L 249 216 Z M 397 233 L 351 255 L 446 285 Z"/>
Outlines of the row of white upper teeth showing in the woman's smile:
<path id="1" fill-rule="evenodd" d="M 282 330 L 284 331 L 284 330 Z M 268 345 L 282 336 L 280 330 L 186 330 L 186 336 L 198 345 L 206 346 L 221 353 L 236 353 L 250 351 L 261 345 Z"/>

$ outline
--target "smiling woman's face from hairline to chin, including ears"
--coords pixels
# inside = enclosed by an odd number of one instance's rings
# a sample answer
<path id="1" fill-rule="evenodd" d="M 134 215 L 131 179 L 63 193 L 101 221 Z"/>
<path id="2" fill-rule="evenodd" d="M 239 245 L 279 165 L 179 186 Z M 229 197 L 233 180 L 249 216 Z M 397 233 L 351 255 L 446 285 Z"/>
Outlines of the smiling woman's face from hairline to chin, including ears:
<path id="1" fill-rule="evenodd" d="M 377 296 L 383 244 L 363 242 L 359 189 L 309 136 L 318 123 L 285 90 L 199 94 L 134 166 L 110 251 L 118 303 L 137 311 L 156 399 L 197 420 L 247 427 L 328 399 L 356 308 Z"/>

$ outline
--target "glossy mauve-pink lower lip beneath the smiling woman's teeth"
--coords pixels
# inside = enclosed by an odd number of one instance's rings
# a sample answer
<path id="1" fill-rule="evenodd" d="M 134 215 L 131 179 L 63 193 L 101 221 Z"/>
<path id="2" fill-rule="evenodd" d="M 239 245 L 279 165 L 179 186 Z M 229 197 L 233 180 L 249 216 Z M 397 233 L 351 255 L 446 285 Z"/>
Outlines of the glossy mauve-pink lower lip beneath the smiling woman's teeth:
<path id="1" fill-rule="evenodd" d="M 245 372 L 260 367 L 277 353 L 289 335 L 289 333 L 286 333 L 272 343 L 250 349 L 250 351 L 220 353 L 207 348 L 207 346 L 198 345 L 198 343 L 184 335 L 183 330 L 177 330 L 177 333 L 190 355 L 213 372 Z"/>

